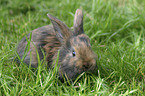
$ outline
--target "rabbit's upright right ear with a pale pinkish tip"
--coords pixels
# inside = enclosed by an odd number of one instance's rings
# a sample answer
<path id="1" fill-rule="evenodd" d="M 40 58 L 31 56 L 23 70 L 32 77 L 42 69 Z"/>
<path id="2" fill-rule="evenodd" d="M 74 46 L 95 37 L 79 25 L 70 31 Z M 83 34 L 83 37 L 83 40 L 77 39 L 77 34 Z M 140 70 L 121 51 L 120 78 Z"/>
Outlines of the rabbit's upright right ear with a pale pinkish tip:
<path id="1" fill-rule="evenodd" d="M 76 35 L 84 33 L 83 29 L 83 12 L 77 9 L 74 17 L 74 33 Z"/>

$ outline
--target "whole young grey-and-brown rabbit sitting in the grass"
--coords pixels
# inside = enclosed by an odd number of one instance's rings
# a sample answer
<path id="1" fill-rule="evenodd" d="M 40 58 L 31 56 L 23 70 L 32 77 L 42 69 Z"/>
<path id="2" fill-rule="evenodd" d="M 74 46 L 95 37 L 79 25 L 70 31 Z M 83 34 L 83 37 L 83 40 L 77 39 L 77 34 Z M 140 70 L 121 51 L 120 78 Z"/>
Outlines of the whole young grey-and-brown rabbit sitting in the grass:
<path id="1" fill-rule="evenodd" d="M 57 58 L 59 50 L 59 78 L 63 75 L 68 79 L 75 79 L 82 72 L 96 72 L 96 55 L 91 49 L 90 39 L 83 30 L 83 13 L 77 9 L 74 18 L 74 31 L 69 29 L 62 21 L 48 14 L 53 26 L 47 25 L 32 31 L 30 50 L 27 53 L 24 63 L 31 64 L 32 67 L 38 66 L 36 55 L 37 48 L 40 60 L 42 60 L 42 49 L 45 52 L 48 66 Z M 27 36 L 29 39 L 30 34 Z M 26 38 L 23 38 L 18 45 L 17 52 L 22 59 L 27 45 Z M 30 54 L 32 60 L 30 62 Z"/>

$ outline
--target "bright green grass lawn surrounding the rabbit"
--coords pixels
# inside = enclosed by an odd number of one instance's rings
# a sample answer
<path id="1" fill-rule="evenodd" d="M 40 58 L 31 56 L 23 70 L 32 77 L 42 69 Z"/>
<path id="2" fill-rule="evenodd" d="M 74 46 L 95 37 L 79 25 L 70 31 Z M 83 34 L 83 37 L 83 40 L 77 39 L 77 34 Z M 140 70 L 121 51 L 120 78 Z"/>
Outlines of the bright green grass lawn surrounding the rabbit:
<path id="1" fill-rule="evenodd" d="M 98 75 L 81 74 L 68 86 L 55 69 L 32 69 L 13 59 L 18 42 L 50 24 L 50 13 L 69 27 L 77 8 L 98 55 Z M 0 0 L 0 96 L 145 95 L 145 0 Z"/>

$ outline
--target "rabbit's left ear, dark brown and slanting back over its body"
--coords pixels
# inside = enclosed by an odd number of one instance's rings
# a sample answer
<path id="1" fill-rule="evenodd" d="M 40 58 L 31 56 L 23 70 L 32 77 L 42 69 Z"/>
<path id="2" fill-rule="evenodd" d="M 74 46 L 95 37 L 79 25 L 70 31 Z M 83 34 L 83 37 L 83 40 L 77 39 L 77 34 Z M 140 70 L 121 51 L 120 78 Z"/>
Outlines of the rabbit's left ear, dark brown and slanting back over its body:
<path id="1" fill-rule="evenodd" d="M 59 19 L 55 18 L 50 14 L 47 14 L 47 16 L 51 20 L 54 30 L 55 32 L 57 32 L 60 38 L 62 38 L 63 40 L 67 40 L 68 38 L 70 38 L 72 32 L 62 21 L 60 21 Z"/>

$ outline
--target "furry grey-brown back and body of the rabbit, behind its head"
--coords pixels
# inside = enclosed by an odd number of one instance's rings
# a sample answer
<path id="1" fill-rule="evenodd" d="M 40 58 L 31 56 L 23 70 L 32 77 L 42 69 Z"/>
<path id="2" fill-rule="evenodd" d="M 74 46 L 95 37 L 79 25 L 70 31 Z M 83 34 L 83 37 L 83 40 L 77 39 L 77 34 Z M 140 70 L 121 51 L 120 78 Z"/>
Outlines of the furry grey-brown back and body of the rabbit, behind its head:
<path id="1" fill-rule="evenodd" d="M 28 40 L 30 39 L 30 34 L 27 35 Z M 24 37 L 17 48 L 18 55 L 22 59 L 24 56 L 24 51 L 26 49 L 27 40 Z M 31 64 L 32 67 L 38 66 L 38 59 L 36 54 L 36 49 L 39 54 L 40 60 L 44 58 L 44 51 L 46 55 L 46 60 L 48 64 L 52 61 L 52 57 L 55 55 L 56 51 L 60 47 L 60 42 L 56 33 L 53 29 L 53 26 L 47 25 L 40 28 L 37 28 L 32 31 L 30 50 L 26 53 L 24 63 L 27 65 Z"/>

